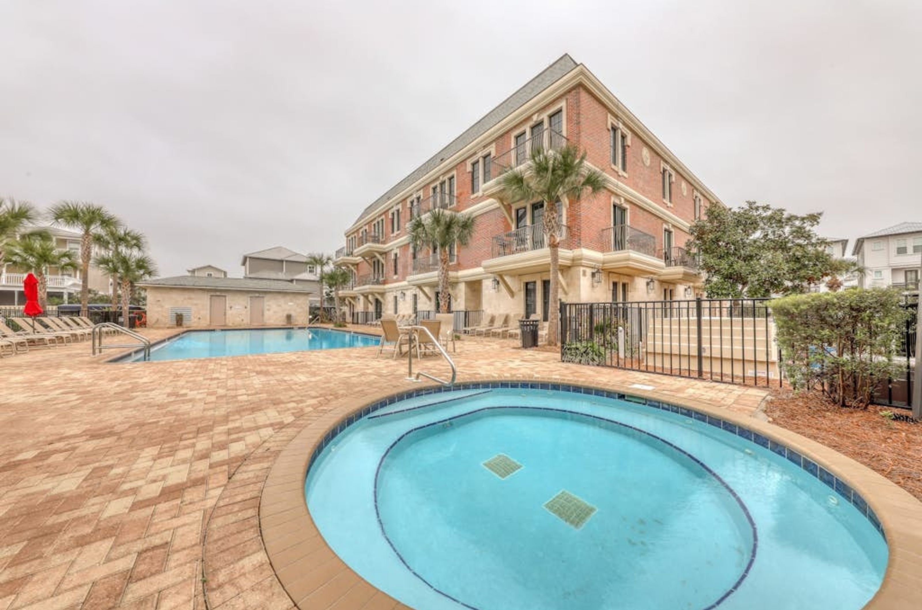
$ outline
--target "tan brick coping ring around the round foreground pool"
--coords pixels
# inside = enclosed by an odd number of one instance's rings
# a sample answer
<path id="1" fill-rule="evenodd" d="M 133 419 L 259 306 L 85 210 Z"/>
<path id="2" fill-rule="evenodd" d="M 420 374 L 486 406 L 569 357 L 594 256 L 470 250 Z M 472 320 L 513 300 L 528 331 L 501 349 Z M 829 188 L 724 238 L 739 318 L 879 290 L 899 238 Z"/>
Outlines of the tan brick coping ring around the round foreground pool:
<path id="1" fill-rule="evenodd" d="M 866 499 L 886 533 L 889 562 L 881 589 L 865 606 L 867 610 L 916 610 L 922 604 L 922 502 L 901 487 L 841 453 L 784 428 L 688 398 L 644 391 L 620 383 L 591 385 L 560 377 L 504 379 L 490 376 L 467 381 L 523 381 L 561 383 L 680 405 L 759 432 L 826 468 Z M 420 389 L 437 387 L 421 385 Z M 402 389 L 398 393 L 405 393 Z M 278 583 L 302 610 L 372 610 L 407 608 L 361 579 L 325 543 L 311 520 L 304 498 L 304 481 L 314 450 L 325 434 L 344 418 L 367 405 L 394 395 L 393 391 L 364 393 L 337 402 L 324 415 L 307 423 L 278 454 L 266 477 L 259 500 L 259 527 L 266 555 Z M 914 573 L 914 571 L 916 573 Z"/>

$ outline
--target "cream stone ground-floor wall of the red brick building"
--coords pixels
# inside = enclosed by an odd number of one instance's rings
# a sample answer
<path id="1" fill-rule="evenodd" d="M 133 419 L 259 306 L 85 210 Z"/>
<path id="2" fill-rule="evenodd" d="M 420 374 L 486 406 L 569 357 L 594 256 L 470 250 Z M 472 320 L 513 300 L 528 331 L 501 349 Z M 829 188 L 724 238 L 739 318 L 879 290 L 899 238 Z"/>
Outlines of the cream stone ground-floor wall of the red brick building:
<path id="1" fill-rule="evenodd" d="M 467 277 L 466 277 L 467 276 Z M 644 301 L 664 298 L 668 290 L 670 299 L 693 299 L 701 294 L 701 287 L 678 282 L 666 282 L 653 276 L 631 276 L 603 271 L 587 265 L 561 268 L 559 298 L 566 302 L 609 302 L 613 299 Z M 543 314 L 544 303 L 550 307 L 546 294 L 550 273 L 505 273 L 491 275 L 478 270 L 457 274 L 449 284 L 452 310 L 484 311 L 502 316 L 509 314 L 513 320 L 525 316 L 526 295 L 534 295 L 535 311 Z M 617 289 L 617 297 L 614 295 Z M 413 286 L 407 282 L 376 287 L 351 299 L 342 299 L 347 311 L 374 311 L 375 299 L 380 299 L 381 311 L 386 314 L 411 314 L 414 302 L 417 311 L 436 309 L 435 293 L 438 286 Z"/>

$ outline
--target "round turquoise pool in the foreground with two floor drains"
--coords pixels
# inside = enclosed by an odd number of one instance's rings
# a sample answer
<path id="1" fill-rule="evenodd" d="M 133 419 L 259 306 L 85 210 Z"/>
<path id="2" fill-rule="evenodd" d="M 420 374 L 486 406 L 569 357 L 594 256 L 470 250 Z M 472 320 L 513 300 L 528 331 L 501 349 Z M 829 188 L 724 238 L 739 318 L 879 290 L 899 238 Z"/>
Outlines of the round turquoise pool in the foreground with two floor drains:
<path id="1" fill-rule="evenodd" d="M 420 610 L 849 610 L 880 587 L 880 522 L 817 463 L 682 407 L 544 387 L 332 430 L 305 482 L 327 544 Z"/>

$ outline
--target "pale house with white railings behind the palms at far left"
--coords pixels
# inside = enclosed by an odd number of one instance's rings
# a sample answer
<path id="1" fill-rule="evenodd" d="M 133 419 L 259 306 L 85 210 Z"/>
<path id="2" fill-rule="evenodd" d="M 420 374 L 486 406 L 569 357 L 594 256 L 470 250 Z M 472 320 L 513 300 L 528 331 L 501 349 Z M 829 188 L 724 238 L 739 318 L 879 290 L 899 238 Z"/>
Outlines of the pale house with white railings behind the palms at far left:
<path id="1" fill-rule="evenodd" d="M 33 227 L 27 231 L 41 229 L 51 234 L 58 250 L 74 252 L 77 266 L 80 262 L 80 234 L 58 227 Z M 18 269 L 12 264 L 5 264 L 0 268 L 0 305 L 24 305 L 25 295 L 22 292 L 22 280 L 29 269 Z M 64 299 L 64 302 L 80 299 L 82 286 L 80 270 L 61 271 L 53 268 L 48 270 L 48 296 Z M 110 294 L 112 283 L 109 276 L 100 271 L 93 264 L 89 265 L 89 289 L 102 294 Z"/>

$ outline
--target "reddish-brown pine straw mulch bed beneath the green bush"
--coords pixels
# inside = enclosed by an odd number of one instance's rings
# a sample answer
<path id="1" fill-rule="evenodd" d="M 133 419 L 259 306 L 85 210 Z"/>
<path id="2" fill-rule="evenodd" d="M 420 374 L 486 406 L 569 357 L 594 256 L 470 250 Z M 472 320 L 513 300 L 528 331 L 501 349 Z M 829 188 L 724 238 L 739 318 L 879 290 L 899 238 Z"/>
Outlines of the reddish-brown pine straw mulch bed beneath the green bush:
<path id="1" fill-rule="evenodd" d="M 881 416 L 888 407 L 867 409 L 830 404 L 820 393 L 775 388 L 765 415 L 772 423 L 844 453 L 922 500 L 922 422 Z M 907 415 L 905 409 L 890 409 Z"/>

